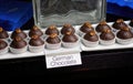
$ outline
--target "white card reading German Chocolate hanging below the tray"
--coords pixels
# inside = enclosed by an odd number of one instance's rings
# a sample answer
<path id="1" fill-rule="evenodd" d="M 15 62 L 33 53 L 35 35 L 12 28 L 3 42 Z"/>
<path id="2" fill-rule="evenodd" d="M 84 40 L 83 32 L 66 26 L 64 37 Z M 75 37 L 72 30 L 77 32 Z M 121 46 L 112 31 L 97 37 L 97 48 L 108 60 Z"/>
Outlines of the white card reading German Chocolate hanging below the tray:
<path id="1" fill-rule="evenodd" d="M 80 65 L 82 64 L 81 54 L 63 54 L 63 55 L 49 55 L 45 56 L 47 69 Z"/>

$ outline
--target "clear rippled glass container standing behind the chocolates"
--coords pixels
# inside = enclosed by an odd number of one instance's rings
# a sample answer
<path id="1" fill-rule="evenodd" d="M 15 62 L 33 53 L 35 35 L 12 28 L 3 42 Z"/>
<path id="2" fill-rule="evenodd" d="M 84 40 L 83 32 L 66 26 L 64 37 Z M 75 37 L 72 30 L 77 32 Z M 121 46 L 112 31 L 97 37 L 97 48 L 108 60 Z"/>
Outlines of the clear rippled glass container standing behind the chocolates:
<path id="1" fill-rule="evenodd" d="M 32 0 L 34 22 L 40 28 L 64 23 L 80 25 L 105 20 L 106 0 Z"/>

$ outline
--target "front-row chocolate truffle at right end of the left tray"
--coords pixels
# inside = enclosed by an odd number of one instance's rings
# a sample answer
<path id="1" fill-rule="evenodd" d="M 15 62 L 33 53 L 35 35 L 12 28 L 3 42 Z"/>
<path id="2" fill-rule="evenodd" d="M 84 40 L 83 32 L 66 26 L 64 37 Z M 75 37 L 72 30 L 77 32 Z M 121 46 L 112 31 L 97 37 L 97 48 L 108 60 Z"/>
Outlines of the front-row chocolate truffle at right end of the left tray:
<path id="1" fill-rule="evenodd" d="M 78 36 L 72 32 L 66 32 L 66 34 L 63 35 L 62 41 L 63 42 L 76 42 Z"/>

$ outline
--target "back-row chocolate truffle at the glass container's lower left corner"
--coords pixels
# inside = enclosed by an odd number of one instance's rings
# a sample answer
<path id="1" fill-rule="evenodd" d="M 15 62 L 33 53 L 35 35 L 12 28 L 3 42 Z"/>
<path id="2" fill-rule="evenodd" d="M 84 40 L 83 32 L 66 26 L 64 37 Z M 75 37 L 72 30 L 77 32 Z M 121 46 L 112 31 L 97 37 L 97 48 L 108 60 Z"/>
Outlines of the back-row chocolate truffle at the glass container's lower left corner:
<path id="1" fill-rule="evenodd" d="M 31 38 L 32 35 L 41 36 L 43 35 L 43 32 L 37 25 L 33 25 L 33 28 L 31 28 L 29 32 L 29 36 Z"/>

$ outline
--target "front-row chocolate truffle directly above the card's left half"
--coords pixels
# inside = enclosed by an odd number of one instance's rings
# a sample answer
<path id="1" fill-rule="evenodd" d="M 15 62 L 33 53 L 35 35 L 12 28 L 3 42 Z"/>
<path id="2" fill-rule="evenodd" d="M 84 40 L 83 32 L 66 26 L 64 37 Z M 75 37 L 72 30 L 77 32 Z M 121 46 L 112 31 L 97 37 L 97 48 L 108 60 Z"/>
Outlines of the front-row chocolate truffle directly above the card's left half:
<path id="1" fill-rule="evenodd" d="M 57 33 L 49 35 L 49 38 L 45 41 L 50 44 L 57 44 L 61 42 Z"/>

